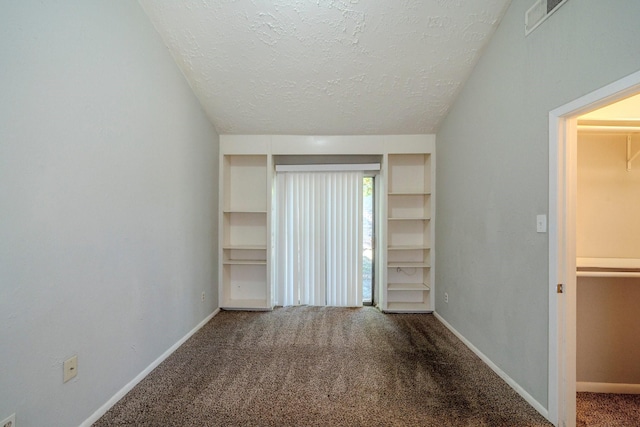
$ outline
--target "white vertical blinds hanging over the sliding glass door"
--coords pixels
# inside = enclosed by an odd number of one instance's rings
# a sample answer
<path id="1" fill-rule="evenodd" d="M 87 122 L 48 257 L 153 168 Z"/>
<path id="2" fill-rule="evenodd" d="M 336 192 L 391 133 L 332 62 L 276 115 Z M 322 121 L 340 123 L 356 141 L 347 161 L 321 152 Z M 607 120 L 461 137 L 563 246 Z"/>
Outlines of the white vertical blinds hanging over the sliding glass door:
<path id="1" fill-rule="evenodd" d="M 277 173 L 277 305 L 362 305 L 362 177 Z"/>

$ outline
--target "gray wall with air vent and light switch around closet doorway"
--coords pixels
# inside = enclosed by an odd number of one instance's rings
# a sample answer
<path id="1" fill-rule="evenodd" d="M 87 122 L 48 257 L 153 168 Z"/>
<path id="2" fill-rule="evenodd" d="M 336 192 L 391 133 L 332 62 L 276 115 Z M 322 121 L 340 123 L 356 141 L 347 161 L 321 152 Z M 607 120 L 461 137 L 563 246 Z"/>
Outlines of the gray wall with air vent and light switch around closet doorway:
<path id="1" fill-rule="evenodd" d="M 640 2 L 570 0 L 525 38 L 532 3 L 511 3 L 437 134 L 436 310 L 548 407 L 548 113 L 640 69 Z"/>

